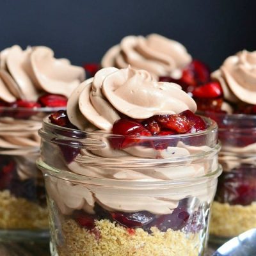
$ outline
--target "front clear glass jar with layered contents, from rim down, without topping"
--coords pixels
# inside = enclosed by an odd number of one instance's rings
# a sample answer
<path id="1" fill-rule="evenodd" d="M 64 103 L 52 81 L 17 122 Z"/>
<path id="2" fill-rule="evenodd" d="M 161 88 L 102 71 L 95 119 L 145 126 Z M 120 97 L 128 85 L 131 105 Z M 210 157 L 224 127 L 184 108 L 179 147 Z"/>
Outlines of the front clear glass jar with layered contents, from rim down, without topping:
<path id="1" fill-rule="evenodd" d="M 118 136 L 45 118 L 37 163 L 52 255 L 203 255 L 221 173 L 217 127 L 205 120 L 195 134 Z M 124 141 L 136 145 L 113 149 Z"/>

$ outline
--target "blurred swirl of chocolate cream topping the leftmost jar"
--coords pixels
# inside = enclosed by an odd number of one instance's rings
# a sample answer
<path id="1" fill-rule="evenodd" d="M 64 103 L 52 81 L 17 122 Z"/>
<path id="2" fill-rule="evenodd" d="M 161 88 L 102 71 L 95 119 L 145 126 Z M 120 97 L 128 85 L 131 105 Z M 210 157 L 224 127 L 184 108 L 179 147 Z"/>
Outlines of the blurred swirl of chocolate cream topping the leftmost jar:
<path id="1" fill-rule="evenodd" d="M 0 52 L 0 99 L 6 102 L 36 101 L 42 92 L 69 97 L 84 79 L 82 67 L 54 58 L 54 52 L 45 46 L 23 51 L 13 45 Z"/>

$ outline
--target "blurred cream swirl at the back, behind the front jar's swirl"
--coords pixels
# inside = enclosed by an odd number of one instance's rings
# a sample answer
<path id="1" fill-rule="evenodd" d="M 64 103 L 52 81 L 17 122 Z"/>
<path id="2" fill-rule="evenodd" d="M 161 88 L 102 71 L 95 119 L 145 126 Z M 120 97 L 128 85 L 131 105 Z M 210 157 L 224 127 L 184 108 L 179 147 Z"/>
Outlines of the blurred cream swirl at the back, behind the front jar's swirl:
<path id="1" fill-rule="evenodd" d="M 125 36 L 103 56 L 102 67 L 145 69 L 156 77 L 180 78 L 181 70 L 192 58 L 186 48 L 164 36 Z"/>

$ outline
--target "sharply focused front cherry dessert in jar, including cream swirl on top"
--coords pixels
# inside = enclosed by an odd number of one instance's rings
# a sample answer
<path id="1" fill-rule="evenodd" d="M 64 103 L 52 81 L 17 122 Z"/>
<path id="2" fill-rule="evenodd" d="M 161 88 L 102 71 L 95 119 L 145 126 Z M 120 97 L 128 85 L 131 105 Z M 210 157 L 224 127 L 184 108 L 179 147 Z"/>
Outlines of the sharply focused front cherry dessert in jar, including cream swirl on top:
<path id="1" fill-rule="evenodd" d="M 109 67 L 45 118 L 52 255 L 203 255 L 220 147 L 195 111 L 178 84 Z"/>

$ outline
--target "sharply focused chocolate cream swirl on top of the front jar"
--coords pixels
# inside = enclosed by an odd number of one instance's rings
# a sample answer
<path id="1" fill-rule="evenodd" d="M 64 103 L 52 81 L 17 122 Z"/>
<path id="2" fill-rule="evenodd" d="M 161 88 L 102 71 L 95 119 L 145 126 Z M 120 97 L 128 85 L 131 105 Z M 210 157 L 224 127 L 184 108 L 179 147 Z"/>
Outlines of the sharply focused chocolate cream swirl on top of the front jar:
<path id="1" fill-rule="evenodd" d="M 157 82 L 145 70 L 109 67 L 76 88 L 68 99 L 67 115 L 81 130 L 90 123 L 94 129 L 111 131 L 120 113 L 144 119 L 186 109 L 195 112 L 196 104 L 178 84 Z"/>

